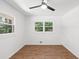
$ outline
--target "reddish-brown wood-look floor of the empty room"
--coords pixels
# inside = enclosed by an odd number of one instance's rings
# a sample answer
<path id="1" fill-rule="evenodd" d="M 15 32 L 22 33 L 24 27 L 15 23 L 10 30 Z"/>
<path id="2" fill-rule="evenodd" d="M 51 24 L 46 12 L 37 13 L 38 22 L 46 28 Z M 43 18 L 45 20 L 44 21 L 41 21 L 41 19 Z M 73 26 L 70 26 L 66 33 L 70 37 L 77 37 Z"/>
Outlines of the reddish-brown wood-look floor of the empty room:
<path id="1" fill-rule="evenodd" d="M 27 45 L 10 59 L 78 59 L 62 45 Z"/>

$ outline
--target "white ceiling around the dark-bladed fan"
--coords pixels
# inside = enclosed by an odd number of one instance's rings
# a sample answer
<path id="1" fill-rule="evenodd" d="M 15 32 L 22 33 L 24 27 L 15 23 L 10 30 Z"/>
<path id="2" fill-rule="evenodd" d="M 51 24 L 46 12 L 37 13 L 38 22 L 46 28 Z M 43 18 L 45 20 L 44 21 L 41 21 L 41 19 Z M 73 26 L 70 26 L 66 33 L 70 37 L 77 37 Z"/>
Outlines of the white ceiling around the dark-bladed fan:
<path id="1" fill-rule="evenodd" d="M 55 8 L 56 11 L 49 9 L 35 8 L 29 10 L 29 7 L 40 5 L 42 0 L 7 0 L 8 2 L 16 3 L 16 6 L 22 8 L 26 13 L 29 12 L 33 15 L 58 15 L 62 16 L 68 11 L 72 10 L 79 5 L 79 0 L 47 0 L 48 5 Z M 12 4 L 13 5 L 13 4 Z"/>

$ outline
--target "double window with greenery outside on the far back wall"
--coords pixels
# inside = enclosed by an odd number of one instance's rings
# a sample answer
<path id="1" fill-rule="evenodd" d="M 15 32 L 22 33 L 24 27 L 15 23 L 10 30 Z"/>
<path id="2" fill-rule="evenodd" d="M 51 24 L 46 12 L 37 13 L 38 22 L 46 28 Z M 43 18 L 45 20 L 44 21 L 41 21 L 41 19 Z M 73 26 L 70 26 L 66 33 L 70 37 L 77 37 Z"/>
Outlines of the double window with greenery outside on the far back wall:
<path id="1" fill-rule="evenodd" d="M 35 22 L 35 31 L 51 32 L 53 31 L 53 23 L 52 22 Z"/>

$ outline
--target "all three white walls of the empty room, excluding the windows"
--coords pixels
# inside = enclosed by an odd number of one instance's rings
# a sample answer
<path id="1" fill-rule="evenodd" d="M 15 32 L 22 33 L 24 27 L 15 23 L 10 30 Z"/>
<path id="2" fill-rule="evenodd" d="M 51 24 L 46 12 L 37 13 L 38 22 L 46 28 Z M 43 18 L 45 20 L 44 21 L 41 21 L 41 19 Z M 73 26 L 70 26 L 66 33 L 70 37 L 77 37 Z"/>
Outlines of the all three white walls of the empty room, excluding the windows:
<path id="1" fill-rule="evenodd" d="M 63 16 L 24 16 L 4 0 L 0 0 L 0 13 L 13 16 L 15 32 L 0 34 L 0 59 L 9 59 L 26 45 L 63 44 L 79 57 L 79 6 Z M 36 32 L 36 21 L 52 21 L 53 32 Z M 41 45 L 40 44 L 40 45 Z"/>

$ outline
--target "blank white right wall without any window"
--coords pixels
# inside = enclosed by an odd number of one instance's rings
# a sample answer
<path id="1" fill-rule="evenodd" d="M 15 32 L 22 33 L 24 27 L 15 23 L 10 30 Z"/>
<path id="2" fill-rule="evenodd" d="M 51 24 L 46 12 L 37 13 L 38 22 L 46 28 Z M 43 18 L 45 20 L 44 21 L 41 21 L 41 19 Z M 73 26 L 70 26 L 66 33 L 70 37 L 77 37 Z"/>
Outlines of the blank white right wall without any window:
<path id="1" fill-rule="evenodd" d="M 63 16 L 63 44 L 79 57 L 79 6 Z"/>

